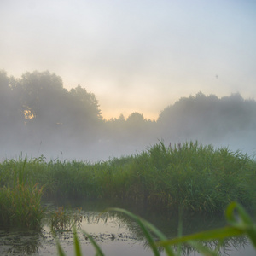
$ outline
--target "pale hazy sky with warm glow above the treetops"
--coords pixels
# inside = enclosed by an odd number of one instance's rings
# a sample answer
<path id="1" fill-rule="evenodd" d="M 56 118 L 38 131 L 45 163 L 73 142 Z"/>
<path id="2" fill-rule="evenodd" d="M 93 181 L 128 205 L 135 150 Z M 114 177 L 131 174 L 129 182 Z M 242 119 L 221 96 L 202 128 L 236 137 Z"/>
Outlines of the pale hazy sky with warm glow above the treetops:
<path id="1" fill-rule="evenodd" d="M 105 118 L 181 96 L 256 98 L 256 1 L 1 0 L 0 69 L 56 73 Z"/>

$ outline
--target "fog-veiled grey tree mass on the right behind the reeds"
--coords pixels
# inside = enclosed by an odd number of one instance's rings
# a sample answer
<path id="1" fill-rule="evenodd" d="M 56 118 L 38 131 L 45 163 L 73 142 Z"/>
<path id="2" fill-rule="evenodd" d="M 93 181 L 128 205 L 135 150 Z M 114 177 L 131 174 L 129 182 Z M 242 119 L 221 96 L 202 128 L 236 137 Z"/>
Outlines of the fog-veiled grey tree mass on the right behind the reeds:
<path id="1" fill-rule="evenodd" d="M 165 108 L 157 122 L 160 134 L 168 140 L 207 140 L 252 129 L 255 114 L 255 101 L 245 101 L 240 94 L 218 99 L 200 92 Z"/>

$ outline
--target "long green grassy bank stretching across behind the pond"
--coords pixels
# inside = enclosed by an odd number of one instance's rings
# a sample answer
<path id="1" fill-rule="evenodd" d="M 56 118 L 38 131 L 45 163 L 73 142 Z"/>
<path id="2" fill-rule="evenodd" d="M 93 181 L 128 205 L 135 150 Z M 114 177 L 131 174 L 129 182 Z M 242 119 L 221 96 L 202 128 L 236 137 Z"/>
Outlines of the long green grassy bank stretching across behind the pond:
<path id="1" fill-rule="evenodd" d="M 95 164 L 46 161 L 43 156 L 4 160 L 0 164 L 0 215 L 7 211 L 6 198 L 19 201 L 21 197 L 15 194 L 26 189 L 39 200 L 42 187 L 45 198 L 108 198 L 166 211 L 182 206 L 193 212 L 223 212 L 230 201 L 249 208 L 256 201 L 255 172 L 255 161 L 245 154 L 192 142 L 172 148 L 158 143 L 142 154 Z M 38 201 L 20 202 L 20 206 L 26 204 Z"/>

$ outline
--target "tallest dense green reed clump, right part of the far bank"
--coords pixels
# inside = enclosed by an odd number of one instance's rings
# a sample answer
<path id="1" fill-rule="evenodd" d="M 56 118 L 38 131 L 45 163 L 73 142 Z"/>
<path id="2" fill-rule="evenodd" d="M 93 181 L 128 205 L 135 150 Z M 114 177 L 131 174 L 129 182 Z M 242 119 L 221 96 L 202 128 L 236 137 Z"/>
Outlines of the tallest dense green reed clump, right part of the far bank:
<path id="1" fill-rule="evenodd" d="M 220 212 L 230 201 L 246 207 L 255 201 L 255 162 L 228 148 L 159 143 L 137 157 L 134 169 L 137 188 L 160 207 Z"/>

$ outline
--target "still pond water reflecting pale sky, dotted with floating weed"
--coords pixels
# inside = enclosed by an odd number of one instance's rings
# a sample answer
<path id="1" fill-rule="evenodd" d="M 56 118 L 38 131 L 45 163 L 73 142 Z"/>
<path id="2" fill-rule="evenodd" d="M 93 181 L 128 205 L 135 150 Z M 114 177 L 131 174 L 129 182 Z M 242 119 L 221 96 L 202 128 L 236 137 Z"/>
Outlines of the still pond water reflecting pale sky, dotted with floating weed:
<path id="1" fill-rule="evenodd" d="M 105 212 L 108 207 L 125 208 L 154 224 L 166 236 L 172 238 L 177 236 L 178 218 L 177 214 L 162 214 L 147 211 L 143 207 L 131 207 L 125 204 L 116 205 L 113 202 L 85 202 L 85 201 L 65 201 L 48 202 L 49 212 L 60 211 L 61 206 L 65 206 L 67 212 L 73 213 L 77 219 L 76 225 L 85 230 L 94 238 L 102 248 L 106 256 L 122 255 L 153 255 L 148 247 L 147 241 L 138 225 L 119 212 Z M 44 219 L 44 227 L 41 232 L 24 231 L 19 229 L 0 228 L 0 255 L 57 255 L 55 237 L 51 232 L 51 218 Z M 223 227 L 224 218 L 203 217 L 203 216 L 183 216 L 183 234 L 191 234 L 201 230 L 210 230 Z M 80 229 L 78 230 L 79 241 L 83 255 L 95 255 L 95 250 L 90 244 L 88 236 Z M 71 225 L 65 227 L 64 231 L 56 230 L 56 237 L 61 243 L 67 255 L 73 253 L 73 232 Z M 209 247 L 215 247 L 214 242 L 208 243 Z M 246 237 L 231 238 L 224 242 L 223 255 L 255 255 L 255 250 Z M 161 255 L 165 255 L 164 252 Z M 183 247 L 183 255 L 200 255 L 190 247 Z"/>

